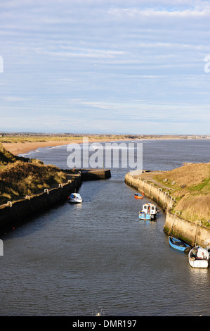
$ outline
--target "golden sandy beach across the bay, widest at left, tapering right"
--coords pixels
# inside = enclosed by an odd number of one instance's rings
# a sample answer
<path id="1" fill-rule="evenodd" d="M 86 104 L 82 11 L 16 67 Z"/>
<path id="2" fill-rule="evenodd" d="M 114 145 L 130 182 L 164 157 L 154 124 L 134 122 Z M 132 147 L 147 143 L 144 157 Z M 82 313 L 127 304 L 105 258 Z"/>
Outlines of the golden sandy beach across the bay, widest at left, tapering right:
<path id="1" fill-rule="evenodd" d="M 117 141 L 122 140 L 129 140 L 129 139 L 116 139 Z M 115 141 L 112 139 L 90 139 L 89 142 L 113 142 Z M 68 144 L 82 144 L 83 139 L 75 139 L 75 140 L 49 140 L 47 142 L 4 142 L 2 145 L 7 151 L 10 151 L 13 155 L 25 154 L 29 151 L 34 151 L 39 147 L 49 147 L 49 146 L 61 146 L 61 145 L 68 145 Z"/>

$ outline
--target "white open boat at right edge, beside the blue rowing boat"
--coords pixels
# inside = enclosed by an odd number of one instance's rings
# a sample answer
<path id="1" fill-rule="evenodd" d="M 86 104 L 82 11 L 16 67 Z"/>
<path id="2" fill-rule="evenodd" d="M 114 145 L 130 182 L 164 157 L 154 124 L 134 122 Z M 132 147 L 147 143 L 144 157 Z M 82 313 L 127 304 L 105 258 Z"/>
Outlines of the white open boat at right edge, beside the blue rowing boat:
<path id="1" fill-rule="evenodd" d="M 201 246 L 193 247 L 188 254 L 188 259 L 192 268 L 208 268 L 209 266 L 209 252 Z"/>

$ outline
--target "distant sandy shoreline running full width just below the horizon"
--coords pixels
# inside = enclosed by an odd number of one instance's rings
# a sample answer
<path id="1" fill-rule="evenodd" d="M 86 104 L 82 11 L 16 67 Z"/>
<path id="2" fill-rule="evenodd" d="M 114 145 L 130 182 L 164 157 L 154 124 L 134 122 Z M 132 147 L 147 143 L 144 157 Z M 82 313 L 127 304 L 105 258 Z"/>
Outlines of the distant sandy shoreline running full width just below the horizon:
<path id="1" fill-rule="evenodd" d="M 177 140 L 177 139 L 182 139 L 182 140 L 209 140 L 209 137 L 206 138 L 195 138 L 195 137 L 121 137 L 114 139 L 114 137 L 111 137 L 110 139 L 107 137 L 105 139 L 101 138 L 91 138 L 88 137 L 89 143 L 91 142 L 119 142 L 119 141 L 133 141 L 133 140 Z M 0 140 L 1 142 L 1 140 Z M 63 146 L 63 145 L 68 145 L 68 144 L 82 144 L 83 139 L 70 139 L 70 140 L 47 140 L 46 142 L 2 142 L 1 144 L 4 146 L 4 148 L 7 151 L 10 151 L 13 155 L 17 156 L 19 154 L 26 154 L 29 153 L 29 151 L 34 151 L 38 149 L 39 147 L 50 147 L 50 146 Z"/>

